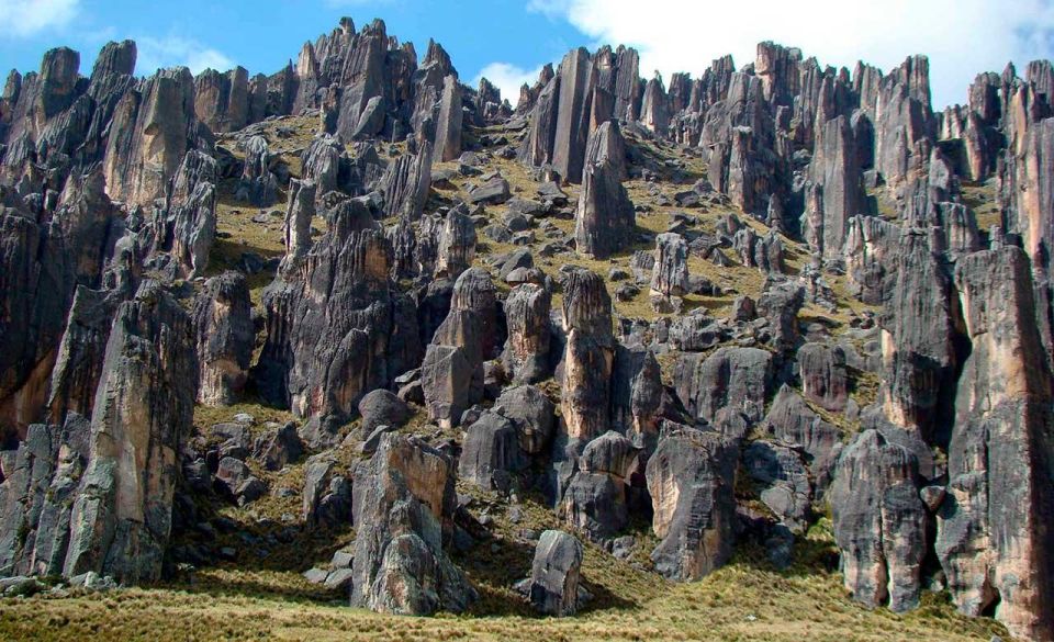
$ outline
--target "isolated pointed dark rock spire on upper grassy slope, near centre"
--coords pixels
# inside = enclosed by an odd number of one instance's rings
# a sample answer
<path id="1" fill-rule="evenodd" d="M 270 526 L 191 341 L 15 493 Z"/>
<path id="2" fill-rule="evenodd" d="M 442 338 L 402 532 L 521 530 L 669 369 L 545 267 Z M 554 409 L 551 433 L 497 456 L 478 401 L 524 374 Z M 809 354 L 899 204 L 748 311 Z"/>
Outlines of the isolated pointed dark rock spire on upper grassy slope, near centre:
<path id="1" fill-rule="evenodd" d="M 580 254 L 607 258 L 631 240 L 637 217 L 621 184 L 625 154 L 623 135 L 615 123 L 604 123 L 590 136 L 582 195 L 574 216 Z"/>

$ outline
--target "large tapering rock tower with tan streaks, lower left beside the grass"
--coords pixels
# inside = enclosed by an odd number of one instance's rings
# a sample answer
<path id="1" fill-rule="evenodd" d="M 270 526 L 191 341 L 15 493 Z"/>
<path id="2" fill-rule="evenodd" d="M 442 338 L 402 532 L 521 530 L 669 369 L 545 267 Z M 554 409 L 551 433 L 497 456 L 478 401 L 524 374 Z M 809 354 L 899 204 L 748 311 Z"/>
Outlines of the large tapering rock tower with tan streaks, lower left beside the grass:
<path id="1" fill-rule="evenodd" d="M 155 282 L 117 311 L 63 574 L 94 571 L 128 583 L 160 576 L 177 457 L 193 415 L 191 340 L 187 314 Z"/>

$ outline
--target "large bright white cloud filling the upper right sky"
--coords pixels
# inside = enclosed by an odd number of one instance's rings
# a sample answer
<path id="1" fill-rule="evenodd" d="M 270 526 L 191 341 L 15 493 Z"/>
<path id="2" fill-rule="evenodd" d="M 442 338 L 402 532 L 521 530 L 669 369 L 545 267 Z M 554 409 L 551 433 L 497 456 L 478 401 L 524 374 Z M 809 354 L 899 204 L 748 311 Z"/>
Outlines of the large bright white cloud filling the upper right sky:
<path id="1" fill-rule="evenodd" d="M 982 71 L 1050 57 L 1054 43 L 1052 0 L 528 0 L 527 9 L 560 14 L 596 42 L 637 47 L 646 78 L 653 69 L 697 76 L 725 54 L 741 67 L 763 41 L 850 70 L 859 59 L 888 70 L 927 54 L 937 108 L 964 102 Z"/>

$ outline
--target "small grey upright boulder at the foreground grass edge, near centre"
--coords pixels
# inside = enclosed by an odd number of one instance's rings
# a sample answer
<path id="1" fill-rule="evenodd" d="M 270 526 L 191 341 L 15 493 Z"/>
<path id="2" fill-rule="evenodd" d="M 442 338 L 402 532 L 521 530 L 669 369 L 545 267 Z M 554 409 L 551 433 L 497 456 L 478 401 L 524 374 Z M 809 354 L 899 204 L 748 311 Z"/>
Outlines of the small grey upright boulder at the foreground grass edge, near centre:
<path id="1" fill-rule="evenodd" d="M 560 618 L 578 611 L 583 556 L 573 536 L 559 530 L 541 533 L 530 566 L 530 604 L 538 612 Z"/>

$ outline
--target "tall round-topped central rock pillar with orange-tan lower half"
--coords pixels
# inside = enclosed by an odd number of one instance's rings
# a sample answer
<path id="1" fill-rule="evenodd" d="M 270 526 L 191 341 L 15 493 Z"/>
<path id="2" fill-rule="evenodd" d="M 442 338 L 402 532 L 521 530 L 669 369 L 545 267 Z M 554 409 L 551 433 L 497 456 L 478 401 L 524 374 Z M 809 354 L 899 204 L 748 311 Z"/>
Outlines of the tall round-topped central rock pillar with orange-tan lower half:
<path id="1" fill-rule="evenodd" d="M 567 334 L 561 409 L 572 439 L 603 435 L 608 427 L 615 338 L 612 299 L 604 280 L 572 269 L 563 282 L 563 330 Z"/>

